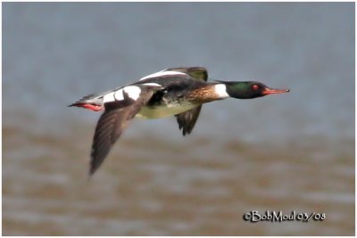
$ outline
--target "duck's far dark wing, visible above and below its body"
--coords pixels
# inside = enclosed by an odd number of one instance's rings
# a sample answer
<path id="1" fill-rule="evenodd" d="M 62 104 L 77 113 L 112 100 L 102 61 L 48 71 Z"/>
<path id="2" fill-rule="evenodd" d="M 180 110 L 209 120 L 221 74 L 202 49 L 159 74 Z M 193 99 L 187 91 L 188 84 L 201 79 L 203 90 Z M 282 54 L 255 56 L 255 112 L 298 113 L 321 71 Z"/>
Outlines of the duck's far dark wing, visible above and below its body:
<path id="1" fill-rule="evenodd" d="M 208 73 L 207 70 L 203 67 L 171 68 L 168 70 L 187 73 L 192 78 L 207 82 Z M 201 108 L 202 106 L 198 106 L 189 111 L 181 112 L 175 115 L 179 123 L 179 129 L 182 129 L 182 135 L 188 135 L 191 133 L 191 131 L 195 127 L 195 122 L 197 121 L 198 116 L 200 115 Z"/>

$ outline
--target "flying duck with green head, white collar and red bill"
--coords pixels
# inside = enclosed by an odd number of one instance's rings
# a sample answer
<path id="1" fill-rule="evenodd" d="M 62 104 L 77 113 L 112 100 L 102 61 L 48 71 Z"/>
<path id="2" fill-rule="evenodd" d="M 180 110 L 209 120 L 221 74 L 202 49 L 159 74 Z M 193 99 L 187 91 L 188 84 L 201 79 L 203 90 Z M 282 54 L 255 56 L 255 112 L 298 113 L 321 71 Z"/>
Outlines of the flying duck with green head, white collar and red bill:
<path id="1" fill-rule="evenodd" d="M 257 81 L 208 82 L 204 67 L 178 67 L 150 74 L 128 86 L 88 94 L 69 106 L 104 111 L 96 123 L 90 152 L 89 176 L 92 176 L 134 118 L 174 116 L 185 136 L 195 127 L 203 103 L 227 98 L 253 99 L 289 91 Z"/>

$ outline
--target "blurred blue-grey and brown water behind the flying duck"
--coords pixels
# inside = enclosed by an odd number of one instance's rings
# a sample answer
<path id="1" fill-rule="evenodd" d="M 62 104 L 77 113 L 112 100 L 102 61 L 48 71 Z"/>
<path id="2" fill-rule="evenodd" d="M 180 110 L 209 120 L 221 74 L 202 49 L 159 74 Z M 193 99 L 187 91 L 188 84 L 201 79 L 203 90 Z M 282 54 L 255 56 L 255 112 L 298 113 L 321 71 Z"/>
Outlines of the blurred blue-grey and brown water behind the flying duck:
<path id="1" fill-rule="evenodd" d="M 179 66 L 291 93 L 136 119 L 87 181 L 67 105 Z M 353 3 L 4 3 L 2 105 L 4 235 L 354 234 Z"/>

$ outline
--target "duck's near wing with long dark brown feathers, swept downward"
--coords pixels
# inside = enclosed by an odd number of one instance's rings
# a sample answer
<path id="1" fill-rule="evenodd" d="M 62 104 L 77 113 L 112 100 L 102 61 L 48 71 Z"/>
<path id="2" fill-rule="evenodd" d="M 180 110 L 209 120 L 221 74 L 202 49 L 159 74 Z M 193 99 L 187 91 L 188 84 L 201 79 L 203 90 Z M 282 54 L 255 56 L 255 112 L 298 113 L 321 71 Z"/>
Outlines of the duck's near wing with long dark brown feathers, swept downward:
<path id="1" fill-rule="evenodd" d="M 140 96 L 134 100 L 124 92 L 122 100 L 104 103 L 105 111 L 95 127 L 89 175 L 93 175 L 95 170 L 100 167 L 111 151 L 112 145 L 118 140 L 123 130 L 129 126 L 129 121 L 135 117 L 153 94 L 154 90 L 142 90 Z"/>

